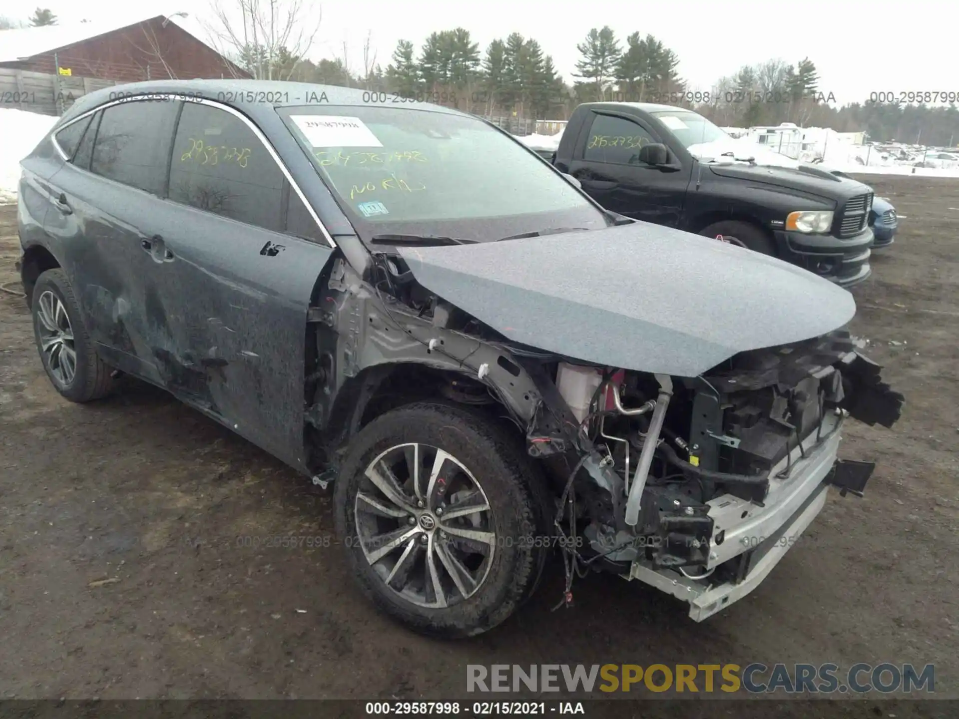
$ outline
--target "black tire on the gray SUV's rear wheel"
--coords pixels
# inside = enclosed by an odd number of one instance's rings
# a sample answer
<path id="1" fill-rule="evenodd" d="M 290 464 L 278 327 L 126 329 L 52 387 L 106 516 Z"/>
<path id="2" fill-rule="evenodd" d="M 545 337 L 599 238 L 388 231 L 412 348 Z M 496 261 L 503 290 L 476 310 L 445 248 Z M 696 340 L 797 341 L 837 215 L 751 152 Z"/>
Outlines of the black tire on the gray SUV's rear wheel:
<path id="1" fill-rule="evenodd" d="M 72 342 L 58 339 L 54 344 L 65 345 L 67 350 L 72 349 L 72 360 L 69 359 L 70 353 L 63 349 L 56 353 L 43 351 L 44 339 L 49 339 L 51 335 L 49 322 L 45 321 L 50 319 L 50 313 L 44 310 L 44 307 L 51 307 L 48 302 L 48 295 L 51 293 L 58 299 L 59 306 L 66 315 L 66 325 L 63 325 L 62 316 L 54 318 L 58 326 L 67 328 L 68 332 L 61 336 L 66 337 L 72 334 Z M 58 305 L 53 303 L 53 307 L 54 314 L 59 314 L 56 310 Z M 36 279 L 31 308 L 34 315 L 36 351 L 54 388 L 70 402 L 90 402 L 109 394 L 113 388 L 113 380 L 110 377 L 113 370 L 97 356 L 93 342 L 83 325 L 77 297 L 62 269 L 48 269 Z M 59 363 L 60 357 L 63 358 L 62 365 Z M 65 368 L 69 368 L 71 364 L 73 371 L 69 372 Z"/>

